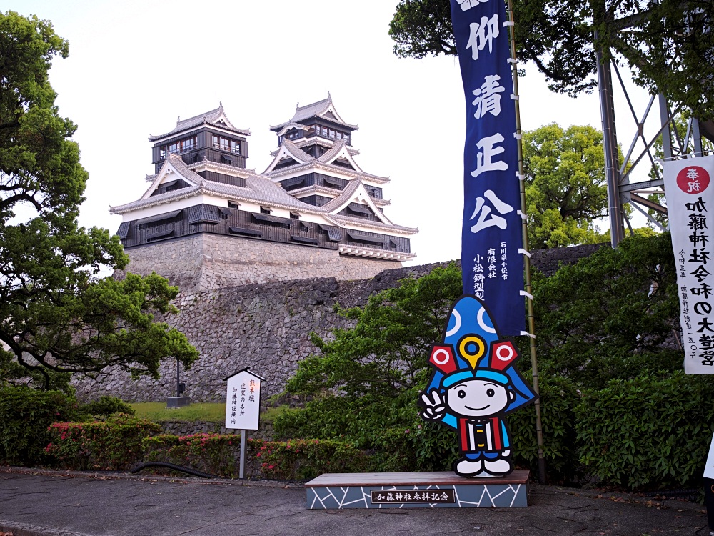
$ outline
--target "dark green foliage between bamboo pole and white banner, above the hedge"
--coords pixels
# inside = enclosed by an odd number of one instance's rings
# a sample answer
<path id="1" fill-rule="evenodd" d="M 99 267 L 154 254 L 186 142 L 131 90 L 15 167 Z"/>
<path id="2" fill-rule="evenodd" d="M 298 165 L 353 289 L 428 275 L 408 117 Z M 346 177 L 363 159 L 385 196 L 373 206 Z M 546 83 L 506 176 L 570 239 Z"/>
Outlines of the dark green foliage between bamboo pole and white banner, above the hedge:
<path id="1" fill-rule="evenodd" d="M 669 233 L 602 247 L 534 288 L 541 372 L 601 389 L 610 379 L 682 366 Z"/>

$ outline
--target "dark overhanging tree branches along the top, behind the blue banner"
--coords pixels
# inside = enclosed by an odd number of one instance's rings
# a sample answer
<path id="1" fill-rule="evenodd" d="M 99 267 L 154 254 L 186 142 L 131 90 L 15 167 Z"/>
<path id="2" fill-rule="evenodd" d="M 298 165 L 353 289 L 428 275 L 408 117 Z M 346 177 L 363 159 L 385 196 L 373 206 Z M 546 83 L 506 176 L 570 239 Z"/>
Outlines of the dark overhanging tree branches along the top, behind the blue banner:
<path id="1" fill-rule="evenodd" d="M 597 84 L 595 49 L 611 47 L 635 82 L 714 117 L 714 3 L 708 0 L 513 0 L 518 56 L 550 89 L 571 96 Z M 456 54 L 449 0 L 400 0 L 389 24 L 402 57 Z M 597 36 L 597 39 L 595 39 Z"/>

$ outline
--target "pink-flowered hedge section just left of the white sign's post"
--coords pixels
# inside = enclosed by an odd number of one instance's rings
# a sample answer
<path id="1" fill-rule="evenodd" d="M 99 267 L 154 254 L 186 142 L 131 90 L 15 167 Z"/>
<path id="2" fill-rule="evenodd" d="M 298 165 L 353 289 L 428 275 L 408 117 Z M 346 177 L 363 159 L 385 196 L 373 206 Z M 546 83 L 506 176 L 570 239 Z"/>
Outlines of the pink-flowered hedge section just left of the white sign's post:
<path id="1" fill-rule="evenodd" d="M 238 475 L 241 436 L 221 434 L 146 437 L 141 443 L 144 462 L 169 462 L 211 475 L 233 478 Z M 156 470 L 171 472 L 171 470 Z"/>

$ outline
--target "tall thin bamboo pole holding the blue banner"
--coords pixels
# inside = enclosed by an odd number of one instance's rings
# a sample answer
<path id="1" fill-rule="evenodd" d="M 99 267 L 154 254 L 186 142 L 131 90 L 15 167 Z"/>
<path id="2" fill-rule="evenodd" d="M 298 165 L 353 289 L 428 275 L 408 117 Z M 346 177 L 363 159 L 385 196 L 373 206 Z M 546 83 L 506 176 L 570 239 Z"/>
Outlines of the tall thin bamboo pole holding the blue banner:
<path id="1" fill-rule="evenodd" d="M 523 214 L 523 250 L 528 252 L 528 222 L 526 221 L 526 179 L 523 174 L 523 140 L 521 136 L 521 105 L 518 101 L 518 63 L 516 59 L 516 27 L 513 20 L 513 0 L 508 0 L 508 36 L 511 40 L 511 74 L 513 75 L 513 95 L 516 105 L 516 143 L 518 145 L 518 179 L 521 185 L 521 214 Z M 538 443 L 538 482 L 545 484 L 545 457 L 543 455 L 543 420 L 540 416 L 540 389 L 538 388 L 538 362 L 535 352 L 535 316 L 533 314 L 533 295 L 531 286 L 531 256 L 530 252 L 523 255 L 523 270 L 526 276 L 526 302 L 528 304 L 528 334 L 529 348 L 531 350 L 531 369 L 533 370 L 533 391 L 538 394 L 535 399 L 535 440 Z"/>

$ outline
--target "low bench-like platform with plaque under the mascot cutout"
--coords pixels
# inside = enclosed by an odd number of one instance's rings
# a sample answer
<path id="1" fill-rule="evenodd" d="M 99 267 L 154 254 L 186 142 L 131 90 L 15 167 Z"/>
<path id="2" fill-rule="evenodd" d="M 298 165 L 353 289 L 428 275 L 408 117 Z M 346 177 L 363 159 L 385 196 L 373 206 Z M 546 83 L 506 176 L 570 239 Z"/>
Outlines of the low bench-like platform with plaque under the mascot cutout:
<path id="1" fill-rule="evenodd" d="M 309 510 L 342 508 L 513 508 L 528 506 L 530 471 L 505 477 L 453 472 L 325 473 L 308 482 Z"/>

